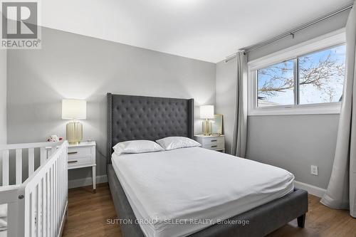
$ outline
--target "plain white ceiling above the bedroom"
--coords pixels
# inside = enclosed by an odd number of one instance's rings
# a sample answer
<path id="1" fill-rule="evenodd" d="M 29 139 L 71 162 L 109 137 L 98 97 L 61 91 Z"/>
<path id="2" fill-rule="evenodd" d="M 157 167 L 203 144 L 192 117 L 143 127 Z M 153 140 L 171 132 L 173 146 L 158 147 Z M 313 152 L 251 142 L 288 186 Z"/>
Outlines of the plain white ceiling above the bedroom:
<path id="1" fill-rule="evenodd" d="M 350 0 L 46 0 L 42 25 L 216 63 Z"/>

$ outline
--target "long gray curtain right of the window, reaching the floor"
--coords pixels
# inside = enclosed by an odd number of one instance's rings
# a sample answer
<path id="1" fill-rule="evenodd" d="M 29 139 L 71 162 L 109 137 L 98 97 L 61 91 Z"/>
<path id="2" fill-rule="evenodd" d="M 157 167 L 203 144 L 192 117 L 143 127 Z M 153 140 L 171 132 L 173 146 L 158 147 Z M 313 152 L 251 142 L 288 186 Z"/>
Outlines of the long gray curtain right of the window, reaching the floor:
<path id="1" fill-rule="evenodd" d="M 354 5 L 355 6 L 355 5 Z M 356 9 L 346 25 L 346 73 L 333 172 L 321 203 L 356 217 Z"/>

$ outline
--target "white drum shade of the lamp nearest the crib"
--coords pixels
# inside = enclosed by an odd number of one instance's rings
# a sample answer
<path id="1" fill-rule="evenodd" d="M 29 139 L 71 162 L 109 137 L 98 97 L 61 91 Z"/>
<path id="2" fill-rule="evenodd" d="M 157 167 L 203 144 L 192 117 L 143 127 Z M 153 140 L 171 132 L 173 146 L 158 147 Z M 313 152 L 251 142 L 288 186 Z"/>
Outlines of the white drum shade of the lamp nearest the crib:
<path id="1" fill-rule="evenodd" d="M 62 100 L 63 120 L 85 120 L 87 118 L 87 102 L 77 99 Z"/>

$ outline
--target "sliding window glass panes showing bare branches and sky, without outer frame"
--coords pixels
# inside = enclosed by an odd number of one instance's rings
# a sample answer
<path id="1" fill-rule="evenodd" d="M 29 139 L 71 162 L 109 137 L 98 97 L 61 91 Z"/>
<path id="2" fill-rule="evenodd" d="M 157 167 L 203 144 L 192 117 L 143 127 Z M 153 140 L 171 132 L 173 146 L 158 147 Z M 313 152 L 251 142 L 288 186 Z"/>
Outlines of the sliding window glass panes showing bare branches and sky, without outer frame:
<path id="1" fill-rule="evenodd" d="M 344 75 L 345 45 L 258 69 L 258 107 L 340 102 Z"/>

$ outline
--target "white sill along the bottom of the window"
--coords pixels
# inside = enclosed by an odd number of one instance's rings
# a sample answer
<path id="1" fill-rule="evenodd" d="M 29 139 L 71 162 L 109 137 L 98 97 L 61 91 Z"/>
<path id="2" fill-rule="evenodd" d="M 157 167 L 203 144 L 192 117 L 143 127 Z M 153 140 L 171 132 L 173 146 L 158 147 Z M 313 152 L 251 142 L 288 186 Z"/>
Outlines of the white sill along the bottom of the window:
<path id="1" fill-rule="evenodd" d="M 276 107 L 250 108 L 248 116 L 256 115 L 337 115 L 340 114 L 341 102 L 313 104 L 313 105 L 286 105 Z"/>

